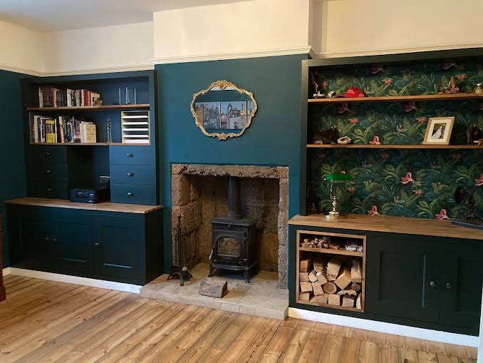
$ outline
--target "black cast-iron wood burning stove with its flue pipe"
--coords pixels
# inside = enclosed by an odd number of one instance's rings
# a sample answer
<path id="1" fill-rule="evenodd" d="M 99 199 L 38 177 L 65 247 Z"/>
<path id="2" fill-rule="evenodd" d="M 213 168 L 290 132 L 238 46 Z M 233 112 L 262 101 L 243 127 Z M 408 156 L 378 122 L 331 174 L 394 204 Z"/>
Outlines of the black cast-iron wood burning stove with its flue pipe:
<path id="1" fill-rule="evenodd" d="M 227 217 L 212 219 L 209 260 L 209 276 L 220 270 L 243 271 L 248 283 L 256 270 L 256 219 L 241 216 L 240 178 L 229 177 Z"/>

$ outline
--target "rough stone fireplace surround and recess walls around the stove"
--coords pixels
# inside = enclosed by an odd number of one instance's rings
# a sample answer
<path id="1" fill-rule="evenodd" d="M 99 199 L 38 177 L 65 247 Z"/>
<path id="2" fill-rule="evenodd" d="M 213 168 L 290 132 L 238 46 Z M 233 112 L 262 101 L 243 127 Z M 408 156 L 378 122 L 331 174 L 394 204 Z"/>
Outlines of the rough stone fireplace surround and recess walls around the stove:
<path id="1" fill-rule="evenodd" d="M 286 289 L 289 199 L 286 167 L 172 165 L 172 225 L 176 225 L 177 215 L 181 214 L 187 265 L 209 262 L 211 220 L 228 213 L 229 176 L 241 177 L 242 213 L 257 220 L 259 270 L 278 272 L 278 286 Z M 175 263 L 175 245 L 172 252 Z"/>

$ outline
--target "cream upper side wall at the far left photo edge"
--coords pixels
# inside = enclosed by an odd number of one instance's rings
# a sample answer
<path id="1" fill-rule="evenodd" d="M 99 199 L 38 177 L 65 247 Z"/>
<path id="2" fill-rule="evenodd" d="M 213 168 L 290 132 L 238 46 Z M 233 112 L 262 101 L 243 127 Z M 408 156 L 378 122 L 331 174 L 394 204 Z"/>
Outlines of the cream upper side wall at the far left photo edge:
<path id="1" fill-rule="evenodd" d="M 43 56 L 43 34 L 0 21 L 0 69 L 36 75 Z"/>

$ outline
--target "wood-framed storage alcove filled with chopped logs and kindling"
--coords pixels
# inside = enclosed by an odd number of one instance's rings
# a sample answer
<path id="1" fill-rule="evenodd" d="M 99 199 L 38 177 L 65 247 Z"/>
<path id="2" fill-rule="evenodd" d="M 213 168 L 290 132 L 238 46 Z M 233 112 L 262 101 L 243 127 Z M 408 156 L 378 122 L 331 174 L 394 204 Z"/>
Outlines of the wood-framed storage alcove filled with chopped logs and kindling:
<path id="1" fill-rule="evenodd" d="M 364 312 L 365 236 L 297 230 L 299 304 Z"/>

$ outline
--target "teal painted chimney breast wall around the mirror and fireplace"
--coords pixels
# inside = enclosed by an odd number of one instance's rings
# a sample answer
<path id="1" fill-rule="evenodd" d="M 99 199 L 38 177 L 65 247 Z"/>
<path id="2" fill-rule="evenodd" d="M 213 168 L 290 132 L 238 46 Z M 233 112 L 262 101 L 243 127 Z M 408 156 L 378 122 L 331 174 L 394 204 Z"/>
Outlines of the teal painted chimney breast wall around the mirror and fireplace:
<path id="1" fill-rule="evenodd" d="M 164 211 L 164 268 L 171 264 L 173 163 L 289 167 L 289 218 L 300 212 L 301 61 L 306 55 L 157 65 L 160 199 Z M 194 125 L 193 93 L 226 79 L 254 93 L 259 109 L 240 138 L 220 141 Z"/>

